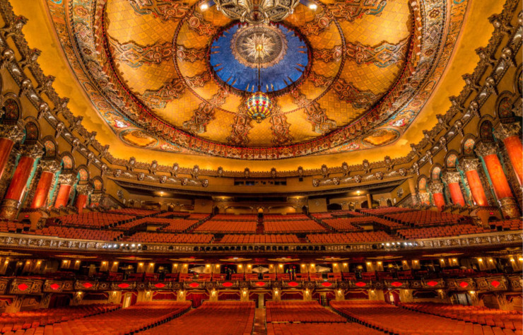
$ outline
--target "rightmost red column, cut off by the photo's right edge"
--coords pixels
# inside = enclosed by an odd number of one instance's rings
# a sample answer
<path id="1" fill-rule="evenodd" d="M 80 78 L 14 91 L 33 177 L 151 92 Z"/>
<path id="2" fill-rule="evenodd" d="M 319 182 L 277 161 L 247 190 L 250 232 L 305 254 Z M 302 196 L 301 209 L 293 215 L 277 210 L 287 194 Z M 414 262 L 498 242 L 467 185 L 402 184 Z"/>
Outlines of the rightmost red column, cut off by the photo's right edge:
<path id="1" fill-rule="evenodd" d="M 512 165 L 512 168 L 514 169 L 519 186 L 522 186 L 523 145 L 521 143 L 520 131 L 521 126 L 519 125 L 519 122 L 510 124 L 500 123 L 495 127 L 494 135 L 505 144 L 508 158 L 510 159 L 510 165 Z"/>

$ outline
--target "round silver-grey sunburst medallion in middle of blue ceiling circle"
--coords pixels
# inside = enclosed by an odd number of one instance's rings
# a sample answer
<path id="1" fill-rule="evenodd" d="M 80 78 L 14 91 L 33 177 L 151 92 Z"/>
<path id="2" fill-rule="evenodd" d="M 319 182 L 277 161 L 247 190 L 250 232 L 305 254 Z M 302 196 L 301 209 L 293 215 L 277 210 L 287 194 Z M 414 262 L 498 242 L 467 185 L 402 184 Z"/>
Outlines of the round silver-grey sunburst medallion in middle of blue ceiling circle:
<path id="1" fill-rule="evenodd" d="M 287 53 L 287 39 L 273 25 L 245 25 L 233 35 L 230 44 L 240 64 L 268 68 L 278 64 Z"/>

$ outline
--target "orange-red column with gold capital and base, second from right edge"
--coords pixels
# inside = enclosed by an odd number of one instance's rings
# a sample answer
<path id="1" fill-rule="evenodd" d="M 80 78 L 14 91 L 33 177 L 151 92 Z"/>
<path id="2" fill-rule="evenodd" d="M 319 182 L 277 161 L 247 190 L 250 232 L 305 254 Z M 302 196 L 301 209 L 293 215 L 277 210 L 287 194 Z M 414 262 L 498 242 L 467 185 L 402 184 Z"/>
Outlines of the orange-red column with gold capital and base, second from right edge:
<path id="1" fill-rule="evenodd" d="M 517 218 L 519 208 L 517 208 L 516 199 L 512 195 L 512 190 L 507 182 L 507 177 L 501 166 L 500 159 L 497 155 L 497 148 L 494 143 L 480 142 L 476 145 L 476 153 L 483 158 L 490 182 L 494 188 L 498 204 L 505 218 Z"/>

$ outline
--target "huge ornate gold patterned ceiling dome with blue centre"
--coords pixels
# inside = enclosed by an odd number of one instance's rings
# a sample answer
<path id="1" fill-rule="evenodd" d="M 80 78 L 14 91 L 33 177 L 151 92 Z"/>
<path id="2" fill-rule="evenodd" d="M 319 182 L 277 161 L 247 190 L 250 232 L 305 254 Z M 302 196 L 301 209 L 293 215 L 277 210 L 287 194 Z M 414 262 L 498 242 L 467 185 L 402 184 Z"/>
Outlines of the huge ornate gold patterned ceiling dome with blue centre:
<path id="1" fill-rule="evenodd" d="M 307 1 L 266 28 L 233 22 L 212 2 L 47 6 L 78 81 L 124 143 L 270 160 L 397 141 L 442 76 L 467 2 L 334 0 L 312 10 Z M 261 44 L 274 110 L 257 123 L 245 99 Z"/>

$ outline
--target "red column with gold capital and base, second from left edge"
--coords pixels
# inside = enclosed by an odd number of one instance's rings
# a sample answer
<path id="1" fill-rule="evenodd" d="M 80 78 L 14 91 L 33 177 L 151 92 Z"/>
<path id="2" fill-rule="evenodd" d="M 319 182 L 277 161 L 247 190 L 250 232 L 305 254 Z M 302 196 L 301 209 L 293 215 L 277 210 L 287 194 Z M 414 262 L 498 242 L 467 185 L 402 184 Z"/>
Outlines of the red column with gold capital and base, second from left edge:
<path id="1" fill-rule="evenodd" d="M 32 143 L 22 148 L 20 160 L 13 174 L 13 179 L 7 189 L 4 201 L 0 208 L 0 218 L 13 220 L 18 216 L 20 201 L 23 199 L 25 187 L 28 183 L 35 160 L 42 157 L 40 144 Z"/>

